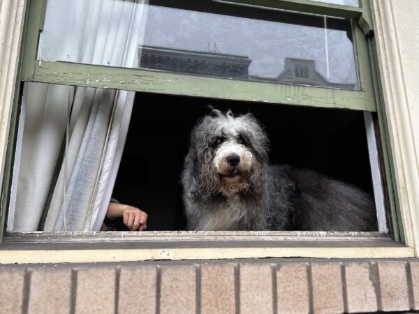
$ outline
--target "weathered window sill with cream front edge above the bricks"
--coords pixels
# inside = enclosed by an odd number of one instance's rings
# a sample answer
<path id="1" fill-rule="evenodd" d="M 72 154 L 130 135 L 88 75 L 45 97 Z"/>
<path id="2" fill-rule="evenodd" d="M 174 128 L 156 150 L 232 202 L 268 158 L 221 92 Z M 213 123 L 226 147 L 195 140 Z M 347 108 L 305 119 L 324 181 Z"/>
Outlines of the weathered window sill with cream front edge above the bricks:
<path id="1" fill-rule="evenodd" d="M 228 240 L 228 241 L 226 241 Z M 0 264 L 415 257 L 378 232 L 31 232 L 7 234 Z"/>

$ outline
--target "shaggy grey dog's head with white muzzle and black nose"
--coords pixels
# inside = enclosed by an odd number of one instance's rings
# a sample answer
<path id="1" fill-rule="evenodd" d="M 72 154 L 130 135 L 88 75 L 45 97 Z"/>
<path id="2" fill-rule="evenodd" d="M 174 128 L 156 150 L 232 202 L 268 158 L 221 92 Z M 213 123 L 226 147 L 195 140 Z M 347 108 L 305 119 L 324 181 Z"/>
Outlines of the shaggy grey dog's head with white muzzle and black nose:
<path id="1" fill-rule="evenodd" d="M 214 110 L 194 128 L 191 151 L 200 194 L 228 197 L 260 188 L 256 181 L 267 161 L 267 137 L 251 114 L 233 117 Z"/>

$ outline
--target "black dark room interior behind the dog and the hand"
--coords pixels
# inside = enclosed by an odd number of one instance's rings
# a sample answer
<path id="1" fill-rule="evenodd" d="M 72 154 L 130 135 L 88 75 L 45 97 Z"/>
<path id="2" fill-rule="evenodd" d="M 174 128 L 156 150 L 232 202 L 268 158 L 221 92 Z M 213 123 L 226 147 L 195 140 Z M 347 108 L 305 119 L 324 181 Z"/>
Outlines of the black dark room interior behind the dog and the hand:
<path id="1" fill-rule="evenodd" d="M 372 194 L 363 112 L 137 93 L 113 196 L 147 212 L 148 230 L 185 230 L 179 184 L 189 134 L 209 105 L 251 112 L 270 162 L 309 168 Z"/>

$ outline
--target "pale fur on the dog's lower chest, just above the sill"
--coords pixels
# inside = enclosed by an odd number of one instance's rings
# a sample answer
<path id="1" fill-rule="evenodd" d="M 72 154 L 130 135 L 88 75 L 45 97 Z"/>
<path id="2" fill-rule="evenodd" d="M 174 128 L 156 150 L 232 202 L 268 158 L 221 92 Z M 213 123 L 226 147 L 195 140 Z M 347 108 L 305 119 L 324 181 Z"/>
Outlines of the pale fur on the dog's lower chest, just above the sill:
<path id="1" fill-rule="evenodd" d="M 225 202 L 214 204 L 214 208 L 205 214 L 198 230 L 235 230 L 238 222 L 246 215 L 246 204 L 239 195 L 232 195 Z"/>

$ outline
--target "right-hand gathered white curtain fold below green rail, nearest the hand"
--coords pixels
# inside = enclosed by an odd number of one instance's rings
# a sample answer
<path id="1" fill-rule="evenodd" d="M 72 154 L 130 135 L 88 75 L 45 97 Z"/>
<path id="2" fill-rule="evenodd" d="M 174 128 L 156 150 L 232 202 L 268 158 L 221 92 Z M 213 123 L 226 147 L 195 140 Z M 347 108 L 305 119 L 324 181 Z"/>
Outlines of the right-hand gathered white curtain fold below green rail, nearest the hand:
<path id="1" fill-rule="evenodd" d="M 110 89 L 96 89 L 94 93 L 93 102 L 84 103 L 82 111 L 89 116 L 87 119 L 83 115 L 78 117 L 80 124 L 75 128 L 75 134 L 71 136 L 68 144 L 61 167 L 61 177 L 55 187 L 45 220 L 45 231 L 82 230 L 84 225 L 90 197 L 101 167 L 115 99 L 115 91 Z M 84 122 L 87 124 L 84 125 Z"/>

